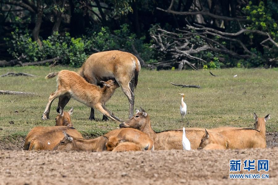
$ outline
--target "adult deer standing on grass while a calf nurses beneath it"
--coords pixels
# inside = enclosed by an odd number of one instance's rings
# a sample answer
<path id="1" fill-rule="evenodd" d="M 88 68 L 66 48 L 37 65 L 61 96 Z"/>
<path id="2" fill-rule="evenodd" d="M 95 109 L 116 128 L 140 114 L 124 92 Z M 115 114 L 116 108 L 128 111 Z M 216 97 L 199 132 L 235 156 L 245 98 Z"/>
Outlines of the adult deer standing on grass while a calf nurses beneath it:
<path id="1" fill-rule="evenodd" d="M 79 75 L 87 82 L 102 86 L 101 80 L 116 79 L 129 102 L 129 116 L 133 116 L 134 88 L 137 86 L 141 65 L 136 56 L 123 51 L 103 51 L 92 54 L 82 65 Z M 69 94 L 59 97 L 59 107 L 65 107 L 70 101 Z M 95 120 L 95 110 L 91 108 L 89 120 Z M 103 115 L 102 120 L 107 120 Z"/>

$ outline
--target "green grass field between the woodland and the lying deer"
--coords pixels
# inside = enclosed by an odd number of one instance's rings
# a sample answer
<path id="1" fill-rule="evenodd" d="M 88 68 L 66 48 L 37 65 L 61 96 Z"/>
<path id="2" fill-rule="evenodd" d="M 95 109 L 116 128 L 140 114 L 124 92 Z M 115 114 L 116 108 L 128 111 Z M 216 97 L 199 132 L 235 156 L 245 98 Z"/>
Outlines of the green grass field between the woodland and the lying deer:
<path id="1" fill-rule="evenodd" d="M 0 90 L 35 92 L 36 95 L 0 95 L 0 139 L 26 136 L 35 126 L 55 125 L 56 106 L 52 104 L 50 120 L 42 121 L 41 115 L 50 93 L 56 90 L 55 79 L 44 79 L 49 72 L 61 69 L 77 71 L 76 68 L 59 67 L 13 67 L 0 68 L 6 72 L 26 72 L 38 77 L 2 77 Z M 135 90 L 135 107 L 140 106 L 149 113 L 156 131 L 187 127 L 213 128 L 218 126 L 254 127 L 253 112 L 259 117 L 271 112 L 267 131 L 278 130 L 278 69 L 217 69 L 200 71 L 149 71 L 142 69 Z M 234 75 L 237 77 L 233 77 Z M 180 88 L 170 84 L 196 84 L 201 88 Z M 185 94 L 187 104 L 186 121 L 181 122 L 179 106 Z M 89 121 L 90 108 L 70 100 L 65 110 L 74 107 L 74 127 L 85 136 L 96 137 L 116 129 L 118 122 L 100 121 L 102 115 L 96 111 L 98 121 Z M 118 88 L 107 108 L 122 120 L 128 119 L 128 100 Z M 10 124 L 13 121 L 15 124 Z"/>

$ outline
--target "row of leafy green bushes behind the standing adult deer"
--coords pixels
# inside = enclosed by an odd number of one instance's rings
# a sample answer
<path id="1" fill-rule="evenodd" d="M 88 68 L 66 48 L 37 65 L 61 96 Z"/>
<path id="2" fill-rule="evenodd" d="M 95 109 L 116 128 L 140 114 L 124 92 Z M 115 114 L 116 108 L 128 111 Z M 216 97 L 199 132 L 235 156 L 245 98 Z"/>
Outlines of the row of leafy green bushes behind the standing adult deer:
<path id="1" fill-rule="evenodd" d="M 150 44 L 144 43 L 145 37 L 137 39 L 135 34 L 130 33 L 127 24 L 122 25 L 120 30 L 115 30 L 113 33 L 108 28 L 101 27 L 99 31 L 78 38 L 71 37 L 69 33 L 60 35 L 56 32 L 42 40 L 41 47 L 36 41 L 32 41 L 29 33 L 19 32 L 19 29 L 16 28 L 11 34 L 11 39 L 5 39 L 11 46 L 8 52 L 14 58 L 22 54 L 26 55 L 25 60 L 28 62 L 59 56 L 60 64 L 78 67 L 96 51 L 120 49 L 134 53 L 132 46 L 141 54 L 143 60 L 153 61 L 151 59 L 154 51 L 150 48 Z"/>

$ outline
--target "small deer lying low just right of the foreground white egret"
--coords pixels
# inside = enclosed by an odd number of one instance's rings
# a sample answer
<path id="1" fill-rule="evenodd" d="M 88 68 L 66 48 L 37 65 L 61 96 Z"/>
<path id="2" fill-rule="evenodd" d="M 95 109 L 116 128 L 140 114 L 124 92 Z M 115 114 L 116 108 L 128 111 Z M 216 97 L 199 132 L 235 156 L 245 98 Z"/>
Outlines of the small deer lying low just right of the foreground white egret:
<path id="1" fill-rule="evenodd" d="M 198 149 L 204 150 L 213 150 L 213 149 L 228 149 L 229 142 L 228 139 L 223 135 L 215 132 L 208 134 L 208 131 L 205 130 L 205 134 L 201 139 L 201 143 Z"/>

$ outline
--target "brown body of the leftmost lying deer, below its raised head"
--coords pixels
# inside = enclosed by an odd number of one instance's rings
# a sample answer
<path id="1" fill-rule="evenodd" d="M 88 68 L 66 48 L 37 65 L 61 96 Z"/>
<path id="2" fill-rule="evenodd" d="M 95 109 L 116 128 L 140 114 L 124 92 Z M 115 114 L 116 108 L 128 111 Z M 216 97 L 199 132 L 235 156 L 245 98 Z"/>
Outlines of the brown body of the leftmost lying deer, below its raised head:
<path id="1" fill-rule="evenodd" d="M 52 150 L 63 138 L 63 131 L 77 138 L 82 135 L 72 127 L 34 127 L 26 136 L 24 150 Z M 49 144 L 48 144 L 49 142 Z"/>

